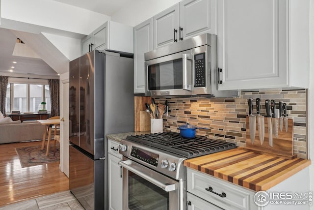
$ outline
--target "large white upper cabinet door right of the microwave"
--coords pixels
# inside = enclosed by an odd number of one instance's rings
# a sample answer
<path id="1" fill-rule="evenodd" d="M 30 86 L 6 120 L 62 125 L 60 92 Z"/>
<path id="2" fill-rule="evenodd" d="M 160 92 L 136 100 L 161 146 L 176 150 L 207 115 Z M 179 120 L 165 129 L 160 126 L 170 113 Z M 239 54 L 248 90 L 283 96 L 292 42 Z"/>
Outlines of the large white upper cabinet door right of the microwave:
<path id="1" fill-rule="evenodd" d="M 218 90 L 287 86 L 287 4 L 218 0 Z"/>

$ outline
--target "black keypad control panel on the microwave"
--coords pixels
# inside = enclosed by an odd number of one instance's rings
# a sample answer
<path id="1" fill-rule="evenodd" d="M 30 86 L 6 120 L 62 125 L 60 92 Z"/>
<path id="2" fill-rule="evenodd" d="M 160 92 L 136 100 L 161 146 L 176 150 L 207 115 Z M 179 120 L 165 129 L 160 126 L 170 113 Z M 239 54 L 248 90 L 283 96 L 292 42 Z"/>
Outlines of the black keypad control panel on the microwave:
<path id="1" fill-rule="evenodd" d="M 206 87 L 205 53 L 194 55 L 194 87 Z"/>

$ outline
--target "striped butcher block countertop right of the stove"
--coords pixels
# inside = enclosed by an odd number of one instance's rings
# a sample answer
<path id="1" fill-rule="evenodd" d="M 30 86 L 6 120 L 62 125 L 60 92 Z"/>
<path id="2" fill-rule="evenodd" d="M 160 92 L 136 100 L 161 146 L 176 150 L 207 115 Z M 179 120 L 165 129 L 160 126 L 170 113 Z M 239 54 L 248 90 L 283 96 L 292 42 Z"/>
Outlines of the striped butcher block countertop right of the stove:
<path id="1" fill-rule="evenodd" d="M 184 161 L 186 167 L 251 190 L 268 190 L 307 166 L 310 160 L 284 159 L 236 148 Z"/>

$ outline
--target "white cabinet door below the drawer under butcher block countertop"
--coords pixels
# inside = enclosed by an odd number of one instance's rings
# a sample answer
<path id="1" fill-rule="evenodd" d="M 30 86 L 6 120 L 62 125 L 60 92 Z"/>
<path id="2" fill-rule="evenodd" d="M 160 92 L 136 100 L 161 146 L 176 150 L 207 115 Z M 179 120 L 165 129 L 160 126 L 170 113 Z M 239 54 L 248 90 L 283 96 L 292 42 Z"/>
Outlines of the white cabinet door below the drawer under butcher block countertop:
<path id="1" fill-rule="evenodd" d="M 187 192 L 186 193 L 187 210 L 222 210 L 221 208 Z"/>

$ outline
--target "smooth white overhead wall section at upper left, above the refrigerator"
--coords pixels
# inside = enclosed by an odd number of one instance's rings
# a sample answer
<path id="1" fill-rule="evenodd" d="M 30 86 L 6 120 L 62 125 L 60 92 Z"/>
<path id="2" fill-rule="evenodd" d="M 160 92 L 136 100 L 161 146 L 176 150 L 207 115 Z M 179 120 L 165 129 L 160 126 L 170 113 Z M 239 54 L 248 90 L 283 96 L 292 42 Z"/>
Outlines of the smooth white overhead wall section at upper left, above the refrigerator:
<path id="1" fill-rule="evenodd" d="M 53 0 L 1 0 L 0 3 L 1 18 L 85 35 L 111 19 Z"/>

